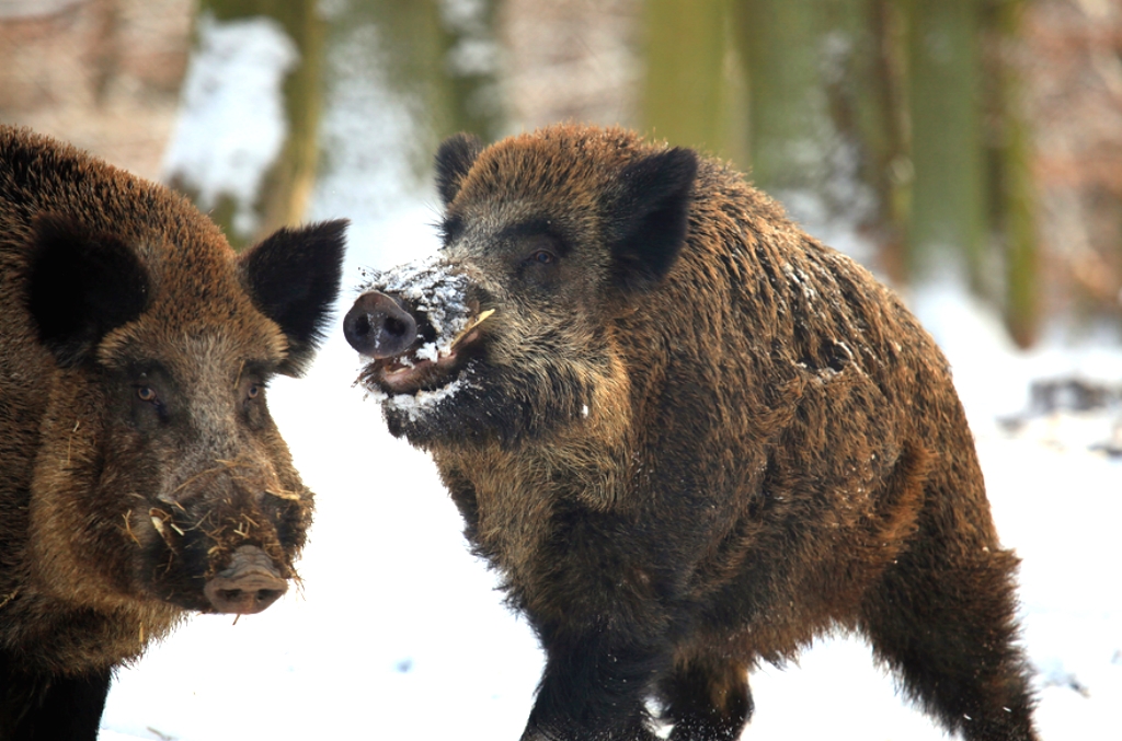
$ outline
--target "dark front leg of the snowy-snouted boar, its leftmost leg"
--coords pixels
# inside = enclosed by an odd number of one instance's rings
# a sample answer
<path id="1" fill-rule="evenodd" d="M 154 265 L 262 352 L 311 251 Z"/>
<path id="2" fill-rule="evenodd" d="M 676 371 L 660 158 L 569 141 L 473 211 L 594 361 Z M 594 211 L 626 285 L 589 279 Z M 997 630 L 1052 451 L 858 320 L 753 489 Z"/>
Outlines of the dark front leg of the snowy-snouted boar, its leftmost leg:
<path id="1" fill-rule="evenodd" d="M 542 635 L 545 673 L 523 741 L 656 741 L 644 700 L 664 652 L 591 628 Z"/>

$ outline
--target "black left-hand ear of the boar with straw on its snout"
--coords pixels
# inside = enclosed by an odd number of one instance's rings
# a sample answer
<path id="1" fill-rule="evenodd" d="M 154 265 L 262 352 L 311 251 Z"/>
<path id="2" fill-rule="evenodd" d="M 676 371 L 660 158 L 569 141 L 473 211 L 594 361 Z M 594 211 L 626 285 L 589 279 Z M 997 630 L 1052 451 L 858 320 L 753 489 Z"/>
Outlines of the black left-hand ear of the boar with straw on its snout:
<path id="1" fill-rule="evenodd" d="M 27 308 L 56 362 L 73 368 L 109 331 L 140 316 L 148 272 L 120 238 L 66 217 L 39 216 L 34 233 Z"/>

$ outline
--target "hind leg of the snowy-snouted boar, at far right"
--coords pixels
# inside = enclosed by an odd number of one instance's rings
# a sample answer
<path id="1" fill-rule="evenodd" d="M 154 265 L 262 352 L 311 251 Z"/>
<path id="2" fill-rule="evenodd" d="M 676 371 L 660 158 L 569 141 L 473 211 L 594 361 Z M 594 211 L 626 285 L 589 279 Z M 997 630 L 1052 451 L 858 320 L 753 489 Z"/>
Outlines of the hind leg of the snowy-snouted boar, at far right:
<path id="1" fill-rule="evenodd" d="M 959 546 L 947 557 L 930 546 L 945 540 L 921 541 L 927 548 L 901 554 L 864 602 L 875 654 L 948 732 L 968 741 L 1036 739 L 1028 664 L 1013 645 L 1017 558 L 996 544 Z"/>

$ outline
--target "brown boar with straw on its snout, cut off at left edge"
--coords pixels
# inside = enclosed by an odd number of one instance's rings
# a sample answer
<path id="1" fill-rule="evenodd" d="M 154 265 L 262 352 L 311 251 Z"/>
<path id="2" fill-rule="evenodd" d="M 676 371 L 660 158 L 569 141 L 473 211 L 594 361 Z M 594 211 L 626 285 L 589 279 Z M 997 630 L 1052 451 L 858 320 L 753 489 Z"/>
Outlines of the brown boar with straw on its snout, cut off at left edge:
<path id="1" fill-rule="evenodd" d="M 344 222 L 240 257 L 183 197 L 0 127 L 0 740 L 94 739 L 113 667 L 295 576 L 312 493 L 265 404 Z"/>

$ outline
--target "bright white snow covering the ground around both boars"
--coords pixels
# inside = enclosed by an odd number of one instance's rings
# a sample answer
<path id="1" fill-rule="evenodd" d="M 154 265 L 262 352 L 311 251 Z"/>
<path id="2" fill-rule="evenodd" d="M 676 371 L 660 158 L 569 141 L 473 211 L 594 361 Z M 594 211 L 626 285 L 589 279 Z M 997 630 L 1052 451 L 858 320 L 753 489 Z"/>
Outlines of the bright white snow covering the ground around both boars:
<path id="1" fill-rule="evenodd" d="M 329 64 L 376 77 L 376 35 L 357 28 L 352 41 L 344 35 Z M 414 123 L 378 90 L 370 80 L 339 84 L 325 105 L 330 159 L 312 217 L 353 220 L 348 287 L 361 266 L 389 267 L 436 244 L 435 195 L 402 187 Z M 195 131 L 202 146 L 209 133 Z M 176 145 L 187 155 L 177 156 L 188 156 L 190 127 L 177 136 L 187 139 Z M 1088 443 L 1109 439 L 1115 419 L 1052 416 L 1017 436 L 997 419 L 1026 406 L 1036 378 L 1078 372 L 1116 383 L 1122 351 L 1066 348 L 1055 336 L 1042 351 L 1017 353 L 993 317 L 949 285 L 910 300 L 951 360 L 1002 538 L 1023 558 L 1024 643 L 1039 669 L 1042 738 L 1113 741 L 1122 729 L 1122 461 Z M 352 298 L 344 290 L 343 311 Z M 377 406 L 352 387 L 357 371 L 337 331 L 305 379 L 269 389 L 274 417 L 319 494 L 303 589 L 236 624 L 193 618 L 121 670 L 103 740 L 518 738 L 542 664 L 534 638 L 467 553 L 432 464 L 389 437 Z M 745 739 L 944 738 L 895 696 L 855 639 L 824 640 L 799 666 L 762 668 L 752 687 L 756 714 Z"/>

